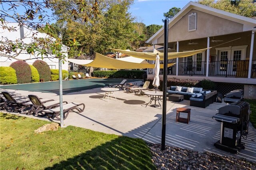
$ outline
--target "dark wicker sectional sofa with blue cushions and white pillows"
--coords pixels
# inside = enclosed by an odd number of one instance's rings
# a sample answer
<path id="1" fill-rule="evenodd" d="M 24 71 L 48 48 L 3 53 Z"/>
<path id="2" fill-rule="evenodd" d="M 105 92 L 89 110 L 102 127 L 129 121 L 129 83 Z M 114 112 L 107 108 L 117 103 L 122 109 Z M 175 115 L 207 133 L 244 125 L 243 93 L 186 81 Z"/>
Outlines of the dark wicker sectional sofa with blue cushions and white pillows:
<path id="1" fill-rule="evenodd" d="M 210 104 L 216 102 L 217 91 L 215 90 L 203 90 L 201 87 L 192 87 L 193 91 L 191 93 L 191 88 L 188 92 L 188 87 L 179 87 L 179 90 L 176 90 L 177 86 L 171 86 L 167 88 L 167 93 L 169 95 L 177 94 L 183 95 L 184 100 L 190 100 L 190 106 L 206 108 Z"/>

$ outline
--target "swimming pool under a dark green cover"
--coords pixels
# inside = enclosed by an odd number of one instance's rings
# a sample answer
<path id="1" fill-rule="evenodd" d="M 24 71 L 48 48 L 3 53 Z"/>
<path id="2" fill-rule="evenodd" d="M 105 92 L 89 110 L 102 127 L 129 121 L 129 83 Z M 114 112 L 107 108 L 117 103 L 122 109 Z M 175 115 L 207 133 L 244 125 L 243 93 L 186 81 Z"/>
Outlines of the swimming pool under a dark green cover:
<path id="1" fill-rule="evenodd" d="M 78 79 L 62 81 L 63 94 L 72 93 L 75 91 L 82 91 L 104 87 L 112 83 L 120 83 L 123 79 Z M 139 79 L 128 79 L 126 82 L 141 81 Z M 47 93 L 59 94 L 59 81 L 49 81 L 43 83 L 29 83 L 18 85 L 2 85 L 1 89 L 14 89 L 24 91 L 38 91 Z"/>

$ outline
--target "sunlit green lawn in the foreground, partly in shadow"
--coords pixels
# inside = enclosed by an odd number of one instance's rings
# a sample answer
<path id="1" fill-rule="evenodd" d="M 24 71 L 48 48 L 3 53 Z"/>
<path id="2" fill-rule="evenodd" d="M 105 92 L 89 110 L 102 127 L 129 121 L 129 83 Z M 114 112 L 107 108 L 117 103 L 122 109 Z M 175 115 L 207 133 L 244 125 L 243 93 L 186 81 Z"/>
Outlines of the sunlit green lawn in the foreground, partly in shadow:
<path id="1" fill-rule="evenodd" d="M 143 140 L 0 113 L 0 169 L 156 169 Z"/>

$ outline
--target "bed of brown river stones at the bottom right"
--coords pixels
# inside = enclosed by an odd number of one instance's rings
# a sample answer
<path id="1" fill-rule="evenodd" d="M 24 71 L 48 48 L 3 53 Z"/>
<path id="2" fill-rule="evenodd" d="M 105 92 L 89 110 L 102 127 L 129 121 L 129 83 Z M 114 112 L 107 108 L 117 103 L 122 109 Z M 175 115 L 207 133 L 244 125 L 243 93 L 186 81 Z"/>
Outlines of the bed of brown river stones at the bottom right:
<path id="1" fill-rule="evenodd" d="M 255 170 L 256 162 L 226 157 L 210 152 L 196 152 L 178 147 L 148 143 L 152 161 L 158 170 Z"/>

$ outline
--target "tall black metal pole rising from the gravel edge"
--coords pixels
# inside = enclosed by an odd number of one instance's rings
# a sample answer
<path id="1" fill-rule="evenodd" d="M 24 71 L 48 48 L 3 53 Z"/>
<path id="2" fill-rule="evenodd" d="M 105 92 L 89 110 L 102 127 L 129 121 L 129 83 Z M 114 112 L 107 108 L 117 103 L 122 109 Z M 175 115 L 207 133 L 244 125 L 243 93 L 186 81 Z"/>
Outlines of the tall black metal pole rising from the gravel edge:
<path id="1" fill-rule="evenodd" d="M 165 150 L 166 132 L 166 97 L 167 97 L 167 63 L 168 63 L 168 20 L 164 20 L 164 82 L 163 82 L 163 112 L 162 112 L 162 142 L 161 150 Z"/>

